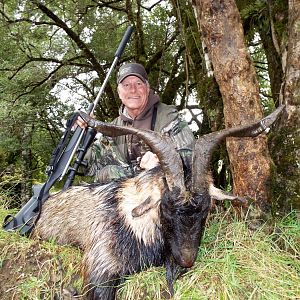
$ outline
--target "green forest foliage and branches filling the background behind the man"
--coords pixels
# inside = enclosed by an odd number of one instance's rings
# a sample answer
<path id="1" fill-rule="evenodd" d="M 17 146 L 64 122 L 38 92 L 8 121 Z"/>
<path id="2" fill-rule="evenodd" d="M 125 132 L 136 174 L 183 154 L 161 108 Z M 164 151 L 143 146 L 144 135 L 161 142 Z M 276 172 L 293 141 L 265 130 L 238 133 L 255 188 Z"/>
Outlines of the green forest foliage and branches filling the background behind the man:
<path id="1" fill-rule="evenodd" d="M 281 45 L 287 27 L 287 0 L 272 1 L 271 12 L 268 3 L 237 1 L 266 114 L 274 109 L 274 95 L 282 83 L 281 78 L 274 81 L 270 70 L 279 74 L 281 66 L 269 60 L 270 48 L 263 46 L 265 40 L 257 33 L 270 36 L 273 20 Z M 8 190 L 17 197 L 24 182 L 45 180 L 45 167 L 65 121 L 75 108 L 86 109 L 95 100 L 129 24 L 135 31 L 119 64 L 133 60 L 145 64 L 151 86 L 165 103 L 189 108 L 188 99 L 193 98 L 204 115 L 197 135 L 223 127 L 222 98 L 215 80 L 207 76 L 189 2 L 157 1 L 150 7 L 148 1 L 10 0 L 0 10 L 0 176 L 11 176 Z M 113 72 L 95 111 L 102 121 L 118 114 L 115 79 Z M 224 152 L 223 147 L 215 162 L 227 161 Z M 231 184 L 225 181 L 224 187 Z M 21 185 L 18 191 L 16 185 Z M 7 193 L 7 188 L 0 192 Z"/>

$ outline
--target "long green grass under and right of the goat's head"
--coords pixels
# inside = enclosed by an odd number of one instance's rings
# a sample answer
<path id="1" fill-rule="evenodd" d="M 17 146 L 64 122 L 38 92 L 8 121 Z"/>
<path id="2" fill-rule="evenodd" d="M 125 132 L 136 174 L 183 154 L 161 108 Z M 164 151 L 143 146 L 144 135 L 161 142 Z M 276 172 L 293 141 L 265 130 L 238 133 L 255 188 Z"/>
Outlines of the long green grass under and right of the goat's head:
<path id="1" fill-rule="evenodd" d="M 300 299 L 300 222 L 294 214 L 251 231 L 214 216 L 195 266 L 175 283 L 174 299 Z M 122 299 L 164 299 L 164 270 L 135 275 Z"/>

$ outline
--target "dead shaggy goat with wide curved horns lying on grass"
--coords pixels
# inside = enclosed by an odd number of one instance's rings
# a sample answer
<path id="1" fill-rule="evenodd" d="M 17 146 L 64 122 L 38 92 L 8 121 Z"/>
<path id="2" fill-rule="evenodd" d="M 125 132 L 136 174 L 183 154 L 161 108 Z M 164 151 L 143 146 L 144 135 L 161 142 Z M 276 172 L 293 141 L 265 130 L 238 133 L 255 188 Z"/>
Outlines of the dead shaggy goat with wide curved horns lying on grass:
<path id="1" fill-rule="evenodd" d="M 213 186 L 209 163 L 226 137 L 255 137 L 277 119 L 283 106 L 251 125 L 200 137 L 184 163 L 171 138 L 159 133 L 91 119 L 108 136 L 135 134 L 157 154 L 160 166 L 107 185 L 73 186 L 43 205 L 34 235 L 83 250 L 89 299 L 114 299 L 124 275 L 165 265 L 170 293 L 180 268 L 193 266 L 211 197 L 239 199 Z"/>

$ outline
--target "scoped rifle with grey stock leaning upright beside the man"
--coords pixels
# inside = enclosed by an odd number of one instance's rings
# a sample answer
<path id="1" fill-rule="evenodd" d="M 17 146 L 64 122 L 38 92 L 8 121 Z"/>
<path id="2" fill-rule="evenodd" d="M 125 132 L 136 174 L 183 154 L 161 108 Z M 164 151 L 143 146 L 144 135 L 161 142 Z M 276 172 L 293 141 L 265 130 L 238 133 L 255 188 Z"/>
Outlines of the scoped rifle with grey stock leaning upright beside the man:
<path id="1" fill-rule="evenodd" d="M 94 109 L 104 92 L 109 77 L 117 64 L 118 59 L 121 57 L 132 32 L 133 26 L 129 26 L 119 44 L 114 60 L 95 101 L 88 107 L 88 114 L 92 114 L 94 112 Z M 95 138 L 96 131 L 90 127 L 83 129 L 77 126 L 72 135 L 72 127 L 78 116 L 79 113 L 77 112 L 67 121 L 66 131 L 64 132 L 58 146 L 53 151 L 49 166 L 46 169 L 46 173 L 48 175 L 46 182 L 44 184 L 33 186 L 33 196 L 15 216 L 7 215 L 4 218 L 3 228 L 6 231 L 18 231 L 22 235 L 29 235 L 39 218 L 43 203 L 49 198 L 49 190 L 51 187 L 53 187 L 57 181 L 61 181 L 67 174 L 68 176 L 64 182 L 62 190 L 67 189 L 73 184 L 78 168 L 81 165 L 85 165 L 83 158 Z M 70 167 L 76 152 L 77 157 L 74 160 L 73 166 Z"/>

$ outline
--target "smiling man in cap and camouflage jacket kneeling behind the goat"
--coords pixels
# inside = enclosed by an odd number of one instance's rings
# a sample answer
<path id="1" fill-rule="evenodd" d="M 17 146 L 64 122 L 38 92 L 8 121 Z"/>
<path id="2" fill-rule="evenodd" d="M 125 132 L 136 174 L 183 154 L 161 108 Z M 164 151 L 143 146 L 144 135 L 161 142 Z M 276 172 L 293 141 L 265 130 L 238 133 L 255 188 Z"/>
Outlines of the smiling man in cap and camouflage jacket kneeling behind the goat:
<path id="1" fill-rule="evenodd" d="M 112 123 L 168 133 L 182 157 L 190 154 L 194 144 L 192 131 L 179 118 L 174 106 L 159 101 L 141 64 L 121 66 L 117 83 L 122 105 L 119 117 Z M 134 176 L 137 170 L 151 169 L 159 164 L 157 156 L 135 135 L 116 138 L 102 136 L 89 149 L 86 160 L 86 175 L 94 176 L 94 181 L 100 183 Z"/>

